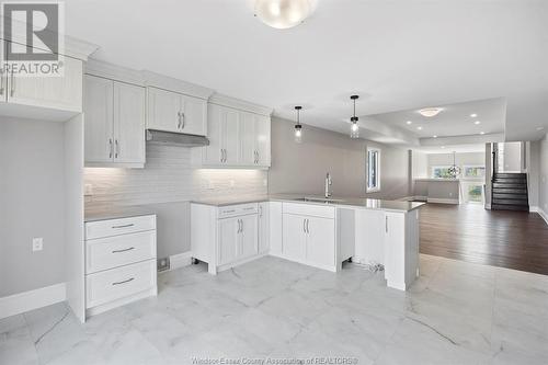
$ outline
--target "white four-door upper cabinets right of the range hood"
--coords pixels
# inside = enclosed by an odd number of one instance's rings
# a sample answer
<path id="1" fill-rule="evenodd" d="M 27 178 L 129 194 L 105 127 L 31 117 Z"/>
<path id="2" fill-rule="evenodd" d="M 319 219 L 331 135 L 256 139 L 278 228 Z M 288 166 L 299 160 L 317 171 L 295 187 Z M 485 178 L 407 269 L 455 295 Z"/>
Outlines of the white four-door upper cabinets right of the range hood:
<path id="1" fill-rule="evenodd" d="M 230 98 L 213 96 L 207 112 L 209 146 L 197 150 L 195 162 L 212 168 L 269 168 L 270 112 Z"/>

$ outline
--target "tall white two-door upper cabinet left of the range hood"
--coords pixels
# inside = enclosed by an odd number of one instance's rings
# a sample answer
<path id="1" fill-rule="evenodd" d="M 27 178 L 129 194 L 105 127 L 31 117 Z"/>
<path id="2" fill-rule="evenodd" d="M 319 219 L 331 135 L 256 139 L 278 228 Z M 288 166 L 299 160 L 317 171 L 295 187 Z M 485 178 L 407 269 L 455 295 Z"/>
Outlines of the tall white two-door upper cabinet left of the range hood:
<path id="1" fill-rule="evenodd" d="M 88 166 L 145 164 L 145 88 L 85 75 L 83 111 Z"/>

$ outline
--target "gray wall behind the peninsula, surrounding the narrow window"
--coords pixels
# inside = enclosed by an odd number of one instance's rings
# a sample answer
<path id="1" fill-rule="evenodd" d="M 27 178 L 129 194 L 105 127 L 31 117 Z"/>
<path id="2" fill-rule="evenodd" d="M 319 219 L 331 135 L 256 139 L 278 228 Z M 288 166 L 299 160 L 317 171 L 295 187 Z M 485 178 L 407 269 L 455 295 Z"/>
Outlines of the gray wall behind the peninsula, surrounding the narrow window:
<path id="1" fill-rule="evenodd" d="M 346 135 L 304 125 L 302 144 L 293 139 L 294 123 L 272 118 L 272 168 L 269 192 L 323 194 L 324 178 L 333 178 L 333 195 L 400 198 L 409 194 L 409 155 Z M 381 149 L 380 192 L 365 193 L 366 147 Z"/>

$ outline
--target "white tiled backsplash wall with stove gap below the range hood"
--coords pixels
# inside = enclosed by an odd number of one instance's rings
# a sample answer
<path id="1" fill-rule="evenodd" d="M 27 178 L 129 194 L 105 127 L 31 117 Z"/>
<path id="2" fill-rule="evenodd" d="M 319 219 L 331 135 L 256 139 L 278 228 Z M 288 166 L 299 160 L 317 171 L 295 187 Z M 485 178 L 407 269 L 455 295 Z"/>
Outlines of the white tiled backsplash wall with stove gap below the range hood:
<path id="1" fill-rule="evenodd" d="M 158 215 L 158 256 L 164 258 L 191 249 L 189 201 L 264 195 L 267 172 L 195 169 L 190 148 L 148 144 L 145 169 L 87 168 L 84 183 L 93 189 L 87 209 L 149 205 Z"/>

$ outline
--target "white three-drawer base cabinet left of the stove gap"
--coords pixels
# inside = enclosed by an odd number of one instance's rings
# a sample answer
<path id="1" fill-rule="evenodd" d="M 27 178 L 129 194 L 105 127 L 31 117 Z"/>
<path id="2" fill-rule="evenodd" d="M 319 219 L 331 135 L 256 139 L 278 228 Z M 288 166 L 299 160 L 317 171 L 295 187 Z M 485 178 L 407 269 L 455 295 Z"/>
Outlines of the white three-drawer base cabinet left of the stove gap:
<path id="1" fill-rule="evenodd" d="M 156 250 L 155 215 L 87 223 L 87 316 L 156 295 Z"/>

